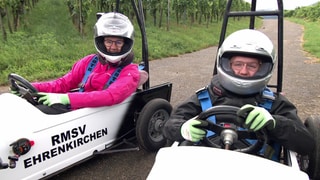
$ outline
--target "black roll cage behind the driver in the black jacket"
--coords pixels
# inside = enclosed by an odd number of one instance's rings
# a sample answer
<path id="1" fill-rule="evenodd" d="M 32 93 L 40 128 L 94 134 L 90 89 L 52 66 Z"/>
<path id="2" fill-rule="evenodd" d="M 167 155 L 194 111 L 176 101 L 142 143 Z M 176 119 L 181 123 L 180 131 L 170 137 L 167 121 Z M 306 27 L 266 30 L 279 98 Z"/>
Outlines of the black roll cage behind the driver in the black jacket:
<path id="1" fill-rule="evenodd" d="M 271 88 L 276 88 L 277 92 L 281 92 L 282 91 L 282 74 L 283 74 L 283 2 L 282 2 L 282 0 L 277 0 L 277 4 L 278 4 L 277 10 L 271 10 L 271 11 L 259 10 L 259 11 L 257 11 L 256 10 L 257 0 L 252 0 L 250 11 L 238 12 L 238 11 L 231 11 L 232 0 L 228 0 L 226 11 L 224 13 L 224 18 L 223 18 L 223 22 L 222 22 L 222 28 L 221 28 L 221 33 L 220 33 L 220 40 L 219 40 L 218 49 L 220 48 L 220 46 L 222 45 L 222 43 L 225 39 L 229 17 L 248 16 L 248 17 L 250 17 L 249 29 L 254 29 L 256 17 L 258 17 L 258 16 L 276 16 L 277 20 L 278 20 L 277 84 L 268 85 L 268 86 Z M 213 74 L 214 75 L 217 74 L 216 60 L 215 60 Z"/>

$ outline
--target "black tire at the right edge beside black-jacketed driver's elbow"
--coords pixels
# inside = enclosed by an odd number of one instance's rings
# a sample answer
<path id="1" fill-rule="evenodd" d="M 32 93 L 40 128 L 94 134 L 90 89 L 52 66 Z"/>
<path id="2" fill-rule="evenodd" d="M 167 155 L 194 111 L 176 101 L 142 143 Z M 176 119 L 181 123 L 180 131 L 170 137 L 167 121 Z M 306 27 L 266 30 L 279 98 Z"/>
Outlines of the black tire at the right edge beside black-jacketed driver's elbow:
<path id="1" fill-rule="evenodd" d="M 308 158 L 307 173 L 310 179 L 320 180 L 320 117 L 310 116 L 304 124 L 315 139 L 315 149 Z"/>

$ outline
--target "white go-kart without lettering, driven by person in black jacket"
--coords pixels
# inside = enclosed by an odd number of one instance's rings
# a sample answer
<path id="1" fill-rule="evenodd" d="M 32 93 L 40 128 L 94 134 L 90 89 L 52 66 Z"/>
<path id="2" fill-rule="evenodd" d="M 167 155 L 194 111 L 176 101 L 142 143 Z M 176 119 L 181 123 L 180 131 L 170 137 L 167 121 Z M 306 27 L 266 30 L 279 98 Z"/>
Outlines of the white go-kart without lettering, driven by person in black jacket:
<path id="1" fill-rule="evenodd" d="M 238 109 L 215 106 L 201 113 L 197 119 L 205 120 L 205 129 L 215 135 L 206 137 L 199 144 L 175 142 L 171 147 L 161 148 L 147 179 L 320 179 L 319 117 L 310 116 L 305 121 L 307 129 L 318 140 L 312 154 L 301 156 L 281 147 L 279 159 L 273 160 L 257 155 L 268 141 L 263 132 L 235 128 L 240 127 L 235 121 Z M 208 120 L 212 115 L 217 123 Z M 237 141 L 248 139 L 254 140 L 253 143 L 230 148 Z"/>

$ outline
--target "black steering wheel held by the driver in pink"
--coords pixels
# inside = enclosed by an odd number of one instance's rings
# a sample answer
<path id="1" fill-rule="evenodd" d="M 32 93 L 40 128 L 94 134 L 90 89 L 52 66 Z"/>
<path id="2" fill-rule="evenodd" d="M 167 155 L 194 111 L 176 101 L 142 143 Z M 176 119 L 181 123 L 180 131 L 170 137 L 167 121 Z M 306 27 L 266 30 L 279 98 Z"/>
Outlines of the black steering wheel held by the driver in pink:
<path id="1" fill-rule="evenodd" d="M 22 98 L 26 99 L 31 104 L 38 104 L 38 101 L 34 96 L 38 91 L 29 81 L 14 73 L 8 75 L 8 80 L 11 90 L 17 91 Z"/>

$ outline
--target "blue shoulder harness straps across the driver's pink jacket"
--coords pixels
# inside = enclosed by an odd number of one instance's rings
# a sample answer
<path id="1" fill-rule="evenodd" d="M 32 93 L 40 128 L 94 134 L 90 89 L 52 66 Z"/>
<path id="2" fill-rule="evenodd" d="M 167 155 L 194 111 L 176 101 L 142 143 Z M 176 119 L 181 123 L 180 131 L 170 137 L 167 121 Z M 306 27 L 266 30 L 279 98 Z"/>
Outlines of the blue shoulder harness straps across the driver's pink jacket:
<path id="1" fill-rule="evenodd" d="M 84 91 L 84 85 L 86 84 L 88 78 L 89 78 L 89 75 L 91 74 L 92 70 L 96 67 L 97 63 L 98 63 L 98 56 L 95 55 L 89 65 L 87 66 L 87 69 L 86 69 L 86 72 L 84 74 L 84 77 L 81 81 L 81 84 L 80 84 L 80 88 L 79 88 L 79 92 L 83 92 Z M 118 67 L 111 75 L 110 79 L 108 80 L 108 82 L 106 83 L 106 85 L 104 86 L 104 89 L 108 88 L 110 86 L 111 83 L 113 83 L 119 76 L 120 74 L 120 71 L 123 69 L 123 66 L 120 66 Z"/>

